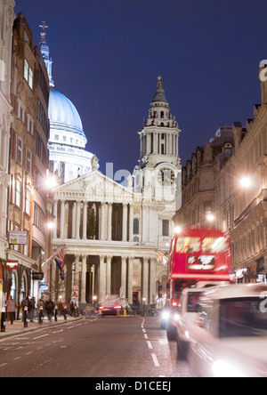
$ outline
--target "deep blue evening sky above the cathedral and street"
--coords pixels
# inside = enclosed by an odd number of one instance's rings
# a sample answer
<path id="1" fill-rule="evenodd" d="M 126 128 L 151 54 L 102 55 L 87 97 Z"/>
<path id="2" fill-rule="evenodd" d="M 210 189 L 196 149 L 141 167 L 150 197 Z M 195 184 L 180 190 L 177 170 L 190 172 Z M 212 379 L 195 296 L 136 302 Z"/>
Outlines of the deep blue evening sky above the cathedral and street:
<path id="1" fill-rule="evenodd" d="M 182 129 L 182 165 L 220 124 L 253 117 L 267 58 L 266 0 L 16 0 L 40 40 L 49 26 L 55 89 L 82 118 L 87 150 L 133 171 L 162 75 Z"/>

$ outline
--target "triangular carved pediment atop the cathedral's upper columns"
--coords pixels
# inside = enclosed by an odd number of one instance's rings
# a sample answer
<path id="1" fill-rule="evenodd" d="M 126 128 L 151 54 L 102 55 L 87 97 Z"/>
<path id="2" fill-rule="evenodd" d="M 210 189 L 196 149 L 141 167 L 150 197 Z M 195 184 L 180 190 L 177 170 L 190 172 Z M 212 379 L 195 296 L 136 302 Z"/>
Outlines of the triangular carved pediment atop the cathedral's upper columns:
<path id="1" fill-rule="evenodd" d="M 91 202 L 134 202 L 134 192 L 111 180 L 99 171 L 60 185 L 55 189 L 55 198 L 87 200 Z"/>

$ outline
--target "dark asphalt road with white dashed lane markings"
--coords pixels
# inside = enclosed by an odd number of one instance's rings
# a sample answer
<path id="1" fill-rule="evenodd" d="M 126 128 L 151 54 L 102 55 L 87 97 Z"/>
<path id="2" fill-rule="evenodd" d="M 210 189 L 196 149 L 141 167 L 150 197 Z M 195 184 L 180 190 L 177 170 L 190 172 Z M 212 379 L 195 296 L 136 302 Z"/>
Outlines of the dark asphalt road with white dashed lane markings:
<path id="1" fill-rule="evenodd" d="M 1 377 L 188 377 L 158 318 L 84 318 L 0 342 Z"/>

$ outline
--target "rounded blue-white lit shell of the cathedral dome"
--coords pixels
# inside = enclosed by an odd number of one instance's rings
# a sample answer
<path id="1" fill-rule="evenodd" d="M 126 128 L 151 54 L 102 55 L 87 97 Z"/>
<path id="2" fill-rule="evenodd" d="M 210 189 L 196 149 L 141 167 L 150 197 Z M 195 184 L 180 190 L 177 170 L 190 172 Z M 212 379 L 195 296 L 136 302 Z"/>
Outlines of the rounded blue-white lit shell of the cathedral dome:
<path id="1" fill-rule="evenodd" d="M 81 118 L 74 104 L 64 96 L 52 89 L 49 95 L 48 114 L 52 129 L 64 132 L 77 133 L 85 137 Z"/>

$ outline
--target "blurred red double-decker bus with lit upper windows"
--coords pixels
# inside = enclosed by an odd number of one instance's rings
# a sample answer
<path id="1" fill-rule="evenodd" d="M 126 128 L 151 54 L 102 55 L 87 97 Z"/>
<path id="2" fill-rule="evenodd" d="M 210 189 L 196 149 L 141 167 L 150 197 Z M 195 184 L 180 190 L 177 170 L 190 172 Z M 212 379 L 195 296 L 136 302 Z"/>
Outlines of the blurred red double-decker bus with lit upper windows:
<path id="1" fill-rule="evenodd" d="M 231 273 L 231 247 L 227 234 L 215 229 L 177 230 L 168 261 L 168 310 L 179 305 L 184 288 L 200 281 L 207 282 L 206 286 L 230 282 Z"/>

